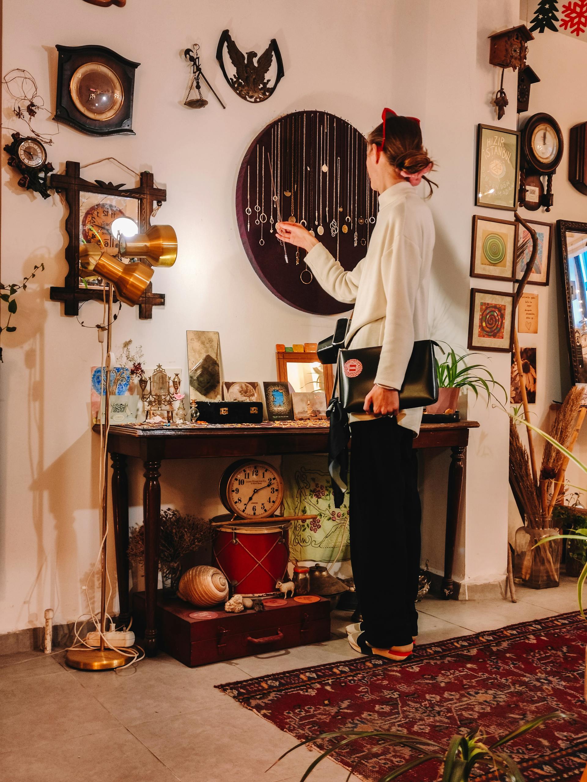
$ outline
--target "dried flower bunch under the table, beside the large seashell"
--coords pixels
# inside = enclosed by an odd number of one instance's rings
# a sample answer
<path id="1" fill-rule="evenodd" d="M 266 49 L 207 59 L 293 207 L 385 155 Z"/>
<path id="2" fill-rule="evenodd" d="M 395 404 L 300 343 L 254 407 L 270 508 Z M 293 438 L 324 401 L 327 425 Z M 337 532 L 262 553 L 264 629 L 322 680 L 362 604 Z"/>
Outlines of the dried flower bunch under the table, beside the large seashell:
<path id="1" fill-rule="evenodd" d="M 161 511 L 159 533 L 159 568 L 163 581 L 177 586 L 181 576 L 181 558 L 191 551 L 198 551 L 212 536 L 209 520 L 182 514 L 174 508 Z M 145 526 L 134 527 L 128 543 L 128 558 L 131 562 L 145 561 Z"/>

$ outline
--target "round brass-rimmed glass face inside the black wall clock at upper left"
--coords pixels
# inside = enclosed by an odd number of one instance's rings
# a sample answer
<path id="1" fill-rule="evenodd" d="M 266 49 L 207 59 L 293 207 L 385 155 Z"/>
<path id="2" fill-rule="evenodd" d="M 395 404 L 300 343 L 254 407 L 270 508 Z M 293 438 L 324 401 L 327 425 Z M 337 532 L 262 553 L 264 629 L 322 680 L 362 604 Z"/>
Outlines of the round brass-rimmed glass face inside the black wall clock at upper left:
<path id="1" fill-rule="evenodd" d="M 85 63 L 71 77 L 70 94 L 77 108 L 91 120 L 111 119 L 122 106 L 120 79 L 102 63 Z"/>

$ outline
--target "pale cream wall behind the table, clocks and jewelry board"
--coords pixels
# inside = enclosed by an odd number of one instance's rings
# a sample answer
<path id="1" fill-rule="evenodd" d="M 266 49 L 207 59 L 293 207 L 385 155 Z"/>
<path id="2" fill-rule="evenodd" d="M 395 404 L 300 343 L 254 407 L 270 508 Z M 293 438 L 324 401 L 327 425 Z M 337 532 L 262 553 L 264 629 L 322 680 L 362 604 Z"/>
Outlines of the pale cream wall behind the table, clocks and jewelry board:
<path id="1" fill-rule="evenodd" d="M 124 307 L 114 343 L 132 338 L 142 344 L 147 365 L 160 361 L 185 371 L 185 331 L 217 330 L 224 377 L 262 381 L 274 378 L 275 343 L 328 334 L 332 318 L 281 303 L 246 260 L 233 206 L 238 167 L 252 138 L 282 113 L 325 109 L 367 132 L 381 107 L 392 106 L 421 117 L 439 163 L 440 188 L 431 201 L 438 234 L 431 322 L 435 336 L 466 346 L 475 129 L 480 121 L 494 122 L 489 98 L 498 79 L 486 64 L 486 35 L 514 23 L 517 2 L 299 0 L 295 13 L 285 3 L 271 8 L 267 13 L 261 0 L 128 0 L 124 9 L 53 0 L 51 13 L 38 13 L 35 0 L 4 2 L 2 73 L 26 67 L 50 105 L 56 43 L 104 44 L 142 63 L 136 136 L 93 138 L 62 126 L 49 149 L 57 170 L 65 160 L 84 164 L 112 155 L 134 170 L 149 168 L 167 188 L 157 221 L 174 225 L 180 255 L 173 269 L 154 277 L 166 307 L 155 308 L 152 321 L 139 321 L 138 310 Z M 23 18 L 26 38 L 16 34 Z M 259 51 L 270 38 L 279 41 L 285 78 L 267 102 L 250 106 L 224 83 L 214 52 L 225 27 L 241 48 Z M 188 70 L 181 52 L 194 41 L 202 45 L 202 66 L 226 111 L 214 99 L 203 111 L 182 106 Z M 546 76 L 546 66 L 542 71 Z M 506 89 L 511 106 L 503 125 L 514 127 L 511 74 Z M 3 124 L 13 124 L 9 120 L 5 108 Z M 47 122 L 41 129 L 54 126 Z M 124 180 L 123 174 L 116 181 Z M 557 199 L 558 191 L 557 183 Z M 20 298 L 18 330 L 2 342 L 0 632 L 40 625 L 48 606 L 55 608 L 56 622 L 74 619 L 84 608 L 81 586 L 98 546 L 98 449 L 88 428 L 88 396 L 89 368 L 98 364 L 100 351 L 94 330 L 64 317 L 61 305 L 48 300 L 49 286 L 62 284 L 66 269 L 64 219 L 59 196 L 45 202 L 25 194 L 2 166 L 2 280 L 12 282 L 40 261 L 46 269 Z M 88 303 L 81 319 L 98 322 L 100 307 Z M 494 353 L 490 366 L 506 383 L 508 359 Z M 492 580 L 505 569 L 507 426 L 503 413 L 482 404 L 471 415 L 482 428 L 471 435 L 456 576 Z M 447 456 L 426 461 L 423 553 L 440 572 Z M 218 512 L 209 487 L 226 463 L 166 462 L 163 503 L 201 515 Z M 131 522 L 141 519 L 140 479 L 134 465 Z"/>

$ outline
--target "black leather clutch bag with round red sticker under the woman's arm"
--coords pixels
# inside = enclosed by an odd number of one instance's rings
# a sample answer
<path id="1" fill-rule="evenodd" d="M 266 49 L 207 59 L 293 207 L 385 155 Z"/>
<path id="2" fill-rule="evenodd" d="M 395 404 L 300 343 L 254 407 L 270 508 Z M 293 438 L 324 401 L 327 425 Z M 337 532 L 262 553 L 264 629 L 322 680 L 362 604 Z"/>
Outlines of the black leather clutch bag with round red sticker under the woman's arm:
<path id="1" fill-rule="evenodd" d="M 399 391 L 399 407 L 426 407 L 438 400 L 438 379 L 431 339 L 413 343 L 406 376 Z M 374 386 L 381 347 L 341 350 L 338 353 L 338 394 L 347 413 L 361 413 L 365 396 Z"/>

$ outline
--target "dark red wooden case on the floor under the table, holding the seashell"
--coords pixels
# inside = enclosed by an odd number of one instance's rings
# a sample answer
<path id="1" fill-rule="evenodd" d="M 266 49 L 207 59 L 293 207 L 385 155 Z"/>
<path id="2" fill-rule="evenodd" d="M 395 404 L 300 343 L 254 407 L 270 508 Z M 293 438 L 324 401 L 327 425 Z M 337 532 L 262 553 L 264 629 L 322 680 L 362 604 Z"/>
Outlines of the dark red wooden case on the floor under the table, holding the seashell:
<path id="1" fill-rule="evenodd" d="M 264 611 L 229 614 L 220 608 L 200 609 L 177 597 L 157 594 L 156 623 L 159 644 L 190 668 L 234 660 L 330 638 L 330 601 L 298 603 L 292 597 Z M 145 629 L 145 593 L 133 596 L 133 618 L 138 634 Z"/>

